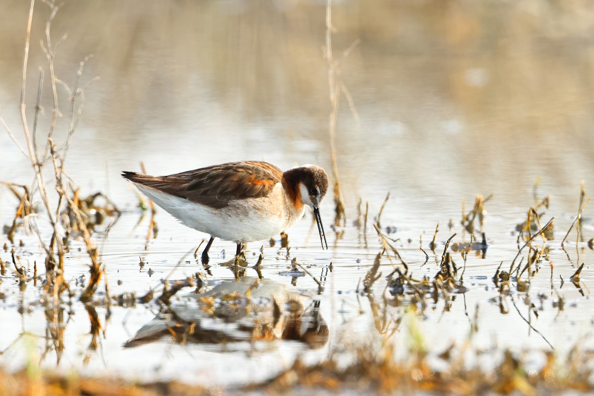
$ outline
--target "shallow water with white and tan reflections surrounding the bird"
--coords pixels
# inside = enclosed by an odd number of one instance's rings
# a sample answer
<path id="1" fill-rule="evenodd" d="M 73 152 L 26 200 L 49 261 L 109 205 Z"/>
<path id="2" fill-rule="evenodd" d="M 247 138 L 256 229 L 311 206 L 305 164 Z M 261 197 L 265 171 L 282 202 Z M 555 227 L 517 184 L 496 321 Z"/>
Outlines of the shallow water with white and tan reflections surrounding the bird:
<path id="1" fill-rule="evenodd" d="M 31 42 L 39 40 L 47 16 L 43 4 L 36 7 Z M 95 56 L 87 62 L 84 75 L 87 80 L 101 77 L 86 88 L 83 119 L 72 140 L 67 172 L 83 194 L 105 192 L 124 211 L 108 239 L 95 235 L 109 292 L 143 296 L 162 287 L 164 278 L 184 280 L 196 272 L 210 281 L 233 280 L 232 271 L 218 265 L 230 259 L 233 243 L 214 242 L 208 274 L 193 257 L 207 236 L 181 226 L 163 211 L 156 217 L 158 237 L 145 250 L 148 219 L 136 225 L 141 216 L 135 207 L 137 198 L 119 172 L 137 170 L 140 161 L 149 173 L 165 175 L 244 159 L 267 160 L 282 169 L 296 163 L 317 163 L 330 169 L 327 64 L 320 51 L 325 9 L 292 2 L 261 8 L 239 7 L 235 2 L 184 7 L 154 2 L 150 7 L 135 7 L 131 2 L 126 13 L 118 14 L 112 12 L 113 7 L 115 2 L 67 3 L 54 25 L 56 35 L 69 33 L 61 57 L 56 58 L 59 77 L 72 84 L 78 61 L 91 52 Z M 107 308 L 102 302 L 102 283 L 96 296 L 101 328 L 93 339 L 89 311 L 82 303 L 66 300 L 61 304 L 62 316 L 48 318 L 39 287 L 27 283 L 21 293 L 9 271 L 0 277 L 0 293 L 5 294 L 0 302 L 0 363 L 17 369 L 39 360 L 64 372 L 75 368 L 147 381 L 175 378 L 239 384 L 270 377 L 290 366 L 298 354 L 317 360 L 350 341 L 373 342 L 378 335 L 375 320 L 384 315 L 391 323 L 403 320 L 391 338 L 402 355 L 410 344 L 410 326 L 418 325 L 426 349 L 435 358 L 451 342 L 469 338 L 475 315 L 478 331 L 471 340 L 479 349 L 493 350 L 495 356 L 501 347 L 546 350 L 550 343 L 561 354 L 576 343 L 592 347 L 589 287 L 593 275 L 589 265 L 593 251 L 585 242 L 576 246 L 575 231 L 565 250 L 560 245 L 577 214 L 580 181 L 585 182 L 586 198 L 594 185 L 590 125 L 594 112 L 587 83 L 592 45 L 586 34 L 591 22 L 585 17 L 579 24 L 569 22 L 571 15 L 586 10 L 548 7 L 552 6 L 536 1 L 523 6 L 496 1 L 447 6 L 440 2 L 334 5 L 335 53 L 361 39 L 340 64 L 358 112 L 357 122 L 347 100 L 341 99 L 337 160 L 346 226 L 330 229 L 333 203 L 329 192 L 321 208 L 328 251 L 320 248 L 308 213 L 289 230 L 288 255 L 279 247 L 280 240 L 274 247 L 266 241 L 251 243 L 247 254 L 253 265 L 263 246 L 263 277 L 285 287 L 306 312 L 311 313 L 311 304 L 318 302 L 319 315 L 329 331 L 323 346 L 310 349 L 307 343 L 279 339 L 223 345 L 185 340 L 178 344 L 163 335 L 152 343 L 124 348 L 157 316 L 157 303 L 112 303 Z M 0 83 L 0 106 L 19 137 L 17 104 L 27 11 L 14 2 L 12 14 L 0 17 L 6 33 L 0 34 L 1 45 L 14 55 L 5 52 L 0 59 L 0 69 L 7 75 Z M 127 17 L 121 19 L 121 15 Z M 37 65 L 43 65 L 42 58 L 32 45 L 29 109 L 34 107 Z M 46 87 L 44 100 L 50 99 L 48 94 Z M 43 128 L 51 103 L 45 106 Z M 65 99 L 61 108 L 68 108 Z M 64 126 L 65 121 L 59 121 L 58 136 L 64 135 Z M 0 134 L 0 147 L 0 180 L 30 184 L 28 160 L 6 134 Z M 537 177 L 541 180 L 538 198 L 552 195 L 542 220 L 555 217 L 555 239 L 546 242 L 551 251 L 530 278 L 528 292 L 517 292 L 512 281 L 510 295 L 501 297 L 500 304 L 491 278 L 501 262 L 501 268 L 508 269 L 516 256 L 516 224 L 525 220 L 534 204 Z M 410 297 L 396 306 L 396 299 L 385 290 L 384 276 L 393 270 L 386 258 L 381 260 L 383 277 L 374 285 L 373 299 L 356 293 L 381 251 L 371 223 L 388 191 L 391 196 L 381 224 L 384 232 L 395 227 L 389 236 L 398 239 L 395 246 L 415 278 L 438 272 L 444 242 L 454 232 L 453 243 L 469 241 L 459 221 L 462 199 L 469 211 L 476 194 L 492 194 L 485 204 L 484 225 L 476 226 L 477 236 L 486 234 L 485 258 L 473 252 L 468 255 L 464 273 L 468 290 L 448 293 L 447 310 L 443 298 L 437 303 L 428 299 L 417 319 L 411 319 L 406 313 Z M 7 189 L 0 194 L 0 220 L 10 224 L 17 201 Z M 364 206 L 369 202 L 366 233 L 353 225 L 359 198 Z M 584 241 L 594 236 L 589 210 L 584 211 Z M 437 248 L 431 252 L 428 243 L 437 222 Z M 47 237 L 47 227 L 41 223 L 41 228 Z M 420 237 L 428 260 L 419 249 Z M 5 235 L 1 238 L 0 245 L 8 242 Z M 17 255 L 31 273 L 33 262 L 43 260 L 37 239 L 21 228 L 17 240 L 24 242 L 22 248 L 15 246 Z M 537 238 L 533 246 L 540 248 L 542 243 Z M 83 251 L 77 252 L 78 247 Z M 527 249 L 522 256 L 526 254 Z M 147 262 L 143 268 L 139 256 Z M 460 267 L 460 255 L 453 257 Z M 0 258 L 10 262 L 10 251 L 0 252 Z M 323 278 L 321 294 L 309 275 L 298 277 L 296 286 L 291 284 L 286 272 L 292 258 Z M 88 280 L 87 261 L 84 245 L 74 242 L 64 273 L 78 292 L 81 286 L 74 286 L 76 279 L 86 275 Z M 577 289 L 569 278 L 582 262 L 586 265 L 580 275 L 581 289 Z M 149 270 L 154 273 L 149 275 Z M 251 268 L 246 274 L 257 277 Z M 385 314 L 381 296 L 387 299 Z M 535 308 L 530 309 L 527 300 Z M 182 289 L 173 302 L 192 306 L 196 303 L 194 288 Z M 196 312 L 192 320 L 199 318 L 204 319 L 204 314 Z M 48 322 L 57 325 L 48 326 Z M 235 325 L 219 321 L 208 326 L 232 331 Z M 64 344 L 55 344 L 53 339 Z M 97 342 L 95 349 L 89 348 L 92 341 Z M 440 364 L 437 359 L 434 363 Z"/>

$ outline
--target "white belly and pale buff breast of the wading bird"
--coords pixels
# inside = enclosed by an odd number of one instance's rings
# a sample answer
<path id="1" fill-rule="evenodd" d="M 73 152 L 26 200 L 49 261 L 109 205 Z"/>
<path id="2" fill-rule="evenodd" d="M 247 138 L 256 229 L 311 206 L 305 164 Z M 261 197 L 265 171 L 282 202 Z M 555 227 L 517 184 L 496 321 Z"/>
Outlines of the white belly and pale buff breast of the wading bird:
<path id="1" fill-rule="evenodd" d="M 143 185 L 135 185 L 185 226 L 236 243 L 253 242 L 279 235 L 304 213 L 303 207 L 296 211 L 287 206 L 280 183 L 277 183 L 267 197 L 230 201 L 229 205 L 222 209 L 214 209 Z"/>

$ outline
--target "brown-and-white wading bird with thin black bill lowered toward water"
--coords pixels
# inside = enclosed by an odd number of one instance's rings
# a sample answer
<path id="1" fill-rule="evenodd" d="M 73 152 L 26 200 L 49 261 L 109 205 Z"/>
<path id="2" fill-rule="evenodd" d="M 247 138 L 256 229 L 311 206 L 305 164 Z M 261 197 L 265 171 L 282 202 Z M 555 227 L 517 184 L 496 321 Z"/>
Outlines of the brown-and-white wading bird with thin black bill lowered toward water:
<path id="1" fill-rule="evenodd" d="M 293 167 L 283 172 L 261 161 L 213 165 L 169 176 L 122 173 L 185 226 L 210 234 L 202 253 L 215 237 L 237 244 L 269 239 L 292 226 L 304 214 L 305 205 L 314 211 L 322 248 L 326 243 L 320 217 L 320 202 L 328 190 L 328 176 L 317 165 Z"/>

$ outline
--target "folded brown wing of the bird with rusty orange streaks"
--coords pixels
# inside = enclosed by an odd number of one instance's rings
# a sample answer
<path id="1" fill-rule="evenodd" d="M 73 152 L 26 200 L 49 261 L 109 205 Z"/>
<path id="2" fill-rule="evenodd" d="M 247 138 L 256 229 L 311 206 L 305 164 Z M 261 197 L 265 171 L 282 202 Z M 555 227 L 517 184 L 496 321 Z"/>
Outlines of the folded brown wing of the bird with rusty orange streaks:
<path id="1" fill-rule="evenodd" d="M 261 161 L 231 162 L 208 166 L 169 176 L 122 173 L 131 182 L 157 191 L 186 198 L 188 201 L 224 208 L 234 199 L 260 198 L 280 182 L 283 172 Z"/>

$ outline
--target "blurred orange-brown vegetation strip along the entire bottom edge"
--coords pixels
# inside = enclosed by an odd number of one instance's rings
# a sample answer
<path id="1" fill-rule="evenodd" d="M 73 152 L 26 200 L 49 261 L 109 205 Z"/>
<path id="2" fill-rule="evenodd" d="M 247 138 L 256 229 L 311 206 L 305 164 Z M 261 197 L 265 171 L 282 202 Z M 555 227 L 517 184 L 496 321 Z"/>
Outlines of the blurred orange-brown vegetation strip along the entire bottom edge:
<path id="1" fill-rule="evenodd" d="M 391 346 L 378 344 L 359 346 L 350 350 L 356 359 L 347 365 L 339 353 L 331 353 L 324 362 L 308 365 L 301 359 L 283 370 L 274 378 L 247 385 L 244 388 L 227 389 L 224 394 L 267 392 L 285 394 L 308 394 L 315 391 L 379 392 L 380 394 L 415 394 L 430 392 L 440 395 L 476 394 L 588 394 L 592 384 L 592 354 L 579 348 L 570 352 L 567 360 L 559 360 L 552 352 L 543 352 L 545 365 L 539 370 L 529 370 L 527 354 L 505 350 L 497 357 L 492 369 L 481 365 L 469 365 L 460 356 L 461 351 L 473 354 L 473 359 L 489 354 L 462 346 L 452 353 L 449 346 L 441 354 L 447 368 L 435 369 L 420 352 L 410 353 L 406 359 L 397 359 Z M 467 357 L 470 359 L 469 357 Z M 112 396 L 112 395 L 219 395 L 218 388 L 188 385 L 178 381 L 134 384 L 114 378 L 80 378 L 75 375 L 61 376 L 40 370 L 21 370 L 7 373 L 0 369 L 0 396 Z"/>

